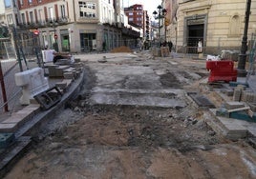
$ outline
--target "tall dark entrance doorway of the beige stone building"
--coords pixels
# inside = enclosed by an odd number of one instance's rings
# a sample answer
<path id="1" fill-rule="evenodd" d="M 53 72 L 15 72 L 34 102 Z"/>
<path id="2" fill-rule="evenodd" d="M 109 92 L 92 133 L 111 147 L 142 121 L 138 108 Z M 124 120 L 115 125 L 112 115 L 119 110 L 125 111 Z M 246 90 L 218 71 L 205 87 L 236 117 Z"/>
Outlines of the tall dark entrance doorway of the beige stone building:
<path id="1" fill-rule="evenodd" d="M 198 42 L 203 42 L 203 24 L 188 26 L 187 48 L 188 53 L 197 53 Z"/>

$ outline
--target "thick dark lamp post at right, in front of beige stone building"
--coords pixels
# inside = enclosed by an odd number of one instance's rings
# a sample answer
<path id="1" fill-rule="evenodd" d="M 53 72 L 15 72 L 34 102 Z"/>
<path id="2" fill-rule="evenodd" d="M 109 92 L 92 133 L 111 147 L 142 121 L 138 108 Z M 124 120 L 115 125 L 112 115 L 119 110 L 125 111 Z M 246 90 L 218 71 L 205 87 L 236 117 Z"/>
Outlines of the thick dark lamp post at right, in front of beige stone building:
<path id="1" fill-rule="evenodd" d="M 246 76 L 245 62 L 246 62 L 247 30 L 248 30 L 248 23 L 249 23 L 250 5 L 251 5 L 251 0 L 247 0 L 246 10 L 245 10 L 245 30 L 244 30 L 241 53 L 239 55 L 240 58 L 238 61 L 238 68 L 237 68 L 239 77 Z"/>

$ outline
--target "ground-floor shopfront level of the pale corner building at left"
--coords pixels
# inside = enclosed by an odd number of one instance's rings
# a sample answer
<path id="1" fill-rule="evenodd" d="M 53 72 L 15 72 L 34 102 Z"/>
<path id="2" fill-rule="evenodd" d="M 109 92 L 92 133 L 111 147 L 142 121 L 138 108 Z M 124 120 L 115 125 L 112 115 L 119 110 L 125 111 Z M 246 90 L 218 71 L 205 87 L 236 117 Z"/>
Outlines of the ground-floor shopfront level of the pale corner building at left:
<path id="1" fill-rule="evenodd" d="M 39 31 L 43 49 L 70 52 L 113 50 L 123 45 L 129 46 L 130 40 L 139 37 L 127 36 L 116 27 L 98 24 L 67 24 Z"/>

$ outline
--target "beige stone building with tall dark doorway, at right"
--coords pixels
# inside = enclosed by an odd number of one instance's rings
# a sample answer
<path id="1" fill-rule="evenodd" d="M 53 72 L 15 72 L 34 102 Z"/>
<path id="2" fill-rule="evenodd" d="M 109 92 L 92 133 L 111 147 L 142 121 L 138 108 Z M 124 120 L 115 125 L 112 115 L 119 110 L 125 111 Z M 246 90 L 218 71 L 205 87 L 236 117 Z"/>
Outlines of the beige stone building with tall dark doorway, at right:
<path id="1" fill-rule="evenodd" d="M 169 10 L 167 39 L 177 51 L 196 53 L 199 41 L 203 52 L 240 50 L 245 29 L 246 0 L 163 0 Z M 256 32 L 256 2 L 251 2 L 248 43 Z"/>

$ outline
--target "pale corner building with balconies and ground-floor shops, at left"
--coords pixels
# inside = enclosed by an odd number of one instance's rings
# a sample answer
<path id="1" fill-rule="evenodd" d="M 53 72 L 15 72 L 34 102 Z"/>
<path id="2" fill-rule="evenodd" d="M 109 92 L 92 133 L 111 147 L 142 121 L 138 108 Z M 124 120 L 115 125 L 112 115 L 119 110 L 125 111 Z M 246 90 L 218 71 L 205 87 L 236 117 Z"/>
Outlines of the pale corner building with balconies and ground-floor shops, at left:
<path id="1" fill-rule="evenodd" d="M 8 25 L 39 32 L 40 45 L 60 51 L 112 50 L 124 39 L 137 39 L 127 29 L 122 0 L 5 0 Z M 10 12 L 9 12 L 10 11 Z"/>

